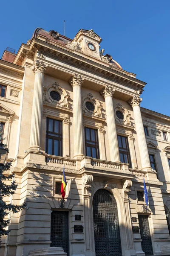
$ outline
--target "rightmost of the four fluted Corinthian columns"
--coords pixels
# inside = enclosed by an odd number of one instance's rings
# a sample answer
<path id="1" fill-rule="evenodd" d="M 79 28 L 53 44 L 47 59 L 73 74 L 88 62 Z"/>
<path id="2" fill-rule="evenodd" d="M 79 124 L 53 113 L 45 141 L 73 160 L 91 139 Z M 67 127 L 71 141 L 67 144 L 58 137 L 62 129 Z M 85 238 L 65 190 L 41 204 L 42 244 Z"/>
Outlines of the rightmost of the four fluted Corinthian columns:
<path id="1" fill-rule="evenodd" d="M 144 134 L 142 116 L 141 116 L 141 111 L 140 111 L 140 103 L 141 102 L 142 102 L 142 99 L 139 98 L 139 96 L 133 96 L 133 98 L 130 99 L 129 104 L 133 108 L 133 113 L 134 113 L 134 118 L 135 118 L 136 134 L 137 134 L 137 138 L 138 138 L 142 170 L 144 170 L 144 169 L 147 170 L 147 169 L 151 169 L 151 167 L 150 167 L 149 154 L 148 154 L 148 150 L 147 150 L 146 138 L 145 138 L 145 134 Z"/>

